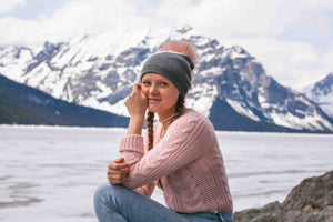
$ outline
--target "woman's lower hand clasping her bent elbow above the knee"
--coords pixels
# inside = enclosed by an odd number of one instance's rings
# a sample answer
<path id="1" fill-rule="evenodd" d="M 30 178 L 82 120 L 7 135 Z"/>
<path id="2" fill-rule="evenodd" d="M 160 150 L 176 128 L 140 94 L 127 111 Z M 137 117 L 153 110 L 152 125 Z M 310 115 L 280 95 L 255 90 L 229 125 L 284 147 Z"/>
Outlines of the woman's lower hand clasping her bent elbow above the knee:
<path id="1" fill-rule="evenodd" d="M 121 184 L 125 181 L 128 173 L 129 165 L 124 162 L 124 158 L 119 158 L 108 167 L 108 181 L 113 185 Z"/>

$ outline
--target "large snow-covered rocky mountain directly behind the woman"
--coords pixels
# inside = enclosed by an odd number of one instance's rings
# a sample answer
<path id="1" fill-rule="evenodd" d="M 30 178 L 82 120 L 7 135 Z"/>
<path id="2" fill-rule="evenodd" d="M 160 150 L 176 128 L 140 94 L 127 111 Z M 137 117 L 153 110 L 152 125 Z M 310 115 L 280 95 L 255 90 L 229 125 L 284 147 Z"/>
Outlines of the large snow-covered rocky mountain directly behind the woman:
<path id="1" fill-rule="evenodd" d="M 10 47 L 0 51 L 0 73 L 58 99 L 127 115 L 123 102 L 143 61 L 168 39 L 191 40 L 199 49 L 186 104 L 216 129 L 333 131 L 332 120 L 314 102 L 279 84 L 244 49 L 225 48 L 191 27 L 104 31 L 46 42 L 39 52 Z"/>

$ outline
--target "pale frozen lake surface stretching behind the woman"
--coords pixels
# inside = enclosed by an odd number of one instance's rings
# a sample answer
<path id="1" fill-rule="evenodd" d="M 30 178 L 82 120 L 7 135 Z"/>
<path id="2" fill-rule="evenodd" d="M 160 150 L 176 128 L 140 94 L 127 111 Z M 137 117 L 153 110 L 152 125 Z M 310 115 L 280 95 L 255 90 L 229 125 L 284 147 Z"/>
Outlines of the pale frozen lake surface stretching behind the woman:
<path id="1" fill-rule="evenodd" d="M 283 201 L 303 179 L 333 170 L 332 134 L 216 132 L 234 210 Z M 124 129 L 0 125 L 0 221 L 97 221 Z M 162 192 L 153 199 L 163 203 Z"/>

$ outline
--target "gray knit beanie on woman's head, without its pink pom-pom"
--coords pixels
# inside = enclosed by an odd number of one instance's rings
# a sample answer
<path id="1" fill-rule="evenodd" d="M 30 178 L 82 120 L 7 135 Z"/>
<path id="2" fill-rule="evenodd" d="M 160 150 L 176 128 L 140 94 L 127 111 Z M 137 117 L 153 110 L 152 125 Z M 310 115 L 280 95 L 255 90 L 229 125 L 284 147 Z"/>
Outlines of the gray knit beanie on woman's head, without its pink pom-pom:
<path id="1" fill-rule="evenodd" d="M 141 70 L 141 81 L 147 73 L 158 73 L 169 79 L 183 95 L 191 88 L 191 70 L 194 64 L 190 57 L 178 52 L 158 52 L 151 56 Z"/>

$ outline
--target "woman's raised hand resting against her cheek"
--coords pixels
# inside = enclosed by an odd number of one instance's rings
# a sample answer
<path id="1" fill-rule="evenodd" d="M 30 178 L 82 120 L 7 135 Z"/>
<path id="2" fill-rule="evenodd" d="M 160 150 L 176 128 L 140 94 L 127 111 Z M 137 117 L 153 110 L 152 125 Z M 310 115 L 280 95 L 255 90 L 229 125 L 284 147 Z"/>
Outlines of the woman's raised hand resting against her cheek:
<path id="1" fill-rule="evenodd" d="M 125 101 L 127 109 L 132 117 L 144 118 L 148 99 L 141 90 L 141 84 L 133 84 L 133 91 Z"/>

